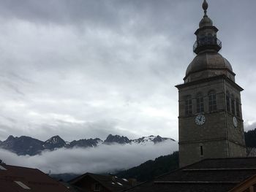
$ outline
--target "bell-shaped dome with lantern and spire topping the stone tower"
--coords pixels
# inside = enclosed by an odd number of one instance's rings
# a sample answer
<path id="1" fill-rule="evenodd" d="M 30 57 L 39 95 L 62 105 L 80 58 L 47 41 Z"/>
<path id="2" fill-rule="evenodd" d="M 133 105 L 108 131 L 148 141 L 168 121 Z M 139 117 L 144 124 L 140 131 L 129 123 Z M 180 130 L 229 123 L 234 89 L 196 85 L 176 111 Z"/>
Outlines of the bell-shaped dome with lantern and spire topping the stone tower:
<path id="1" fill-rule="evenodd" d="M 203 1 L 203 19 L 200 20 L 199 28 L 195 31 L 197 39 L 193 47 L 197 56 L 187 67 L 185 82 L 192 82 L 208 77 L 225 74 L 230 80 L 235 81 L 230 63 L 218 52 L 222 48 L 222 42 L 217 39 L 218 29 L 207 15 L 208 3 Z"/>

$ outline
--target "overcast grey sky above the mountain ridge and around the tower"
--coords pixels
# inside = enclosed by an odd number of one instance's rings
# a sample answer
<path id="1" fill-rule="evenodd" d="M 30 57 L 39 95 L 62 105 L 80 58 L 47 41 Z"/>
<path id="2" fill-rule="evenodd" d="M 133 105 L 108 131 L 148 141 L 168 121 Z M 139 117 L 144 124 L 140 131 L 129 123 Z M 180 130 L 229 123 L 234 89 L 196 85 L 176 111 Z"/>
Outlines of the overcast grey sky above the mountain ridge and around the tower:
<path id="1" fill-rule="evenodd" d="M 178 139 L 202 0 L 0 0 L 0 139 Z M 255 0 L 208 0 L 256 128 Z"/>

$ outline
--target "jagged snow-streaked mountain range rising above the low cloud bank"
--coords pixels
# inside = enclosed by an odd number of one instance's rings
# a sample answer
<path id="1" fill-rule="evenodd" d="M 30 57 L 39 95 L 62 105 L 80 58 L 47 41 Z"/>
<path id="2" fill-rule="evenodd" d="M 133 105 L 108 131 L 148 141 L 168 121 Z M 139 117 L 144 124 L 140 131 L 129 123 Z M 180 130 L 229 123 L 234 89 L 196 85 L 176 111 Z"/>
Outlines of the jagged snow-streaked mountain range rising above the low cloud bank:
<path id="1" fill-rule="evenodd" d="M 108 135 L 108 137 L 102 141 L 102 139 L 79 139 L 72 142 L 65 142 L 58 135 L 50 137 L 45 142 L 32 137 L 13 137 L 10 135 L 4 142 L 0 141 L 0 147 L 5 150 L 10 150 L 18 155 L 38 155 L 43 150 L 56 150 L 59 148 L 73 148 L 73 147 L 98 147 L 99 145 L 154 145 L 157 143 L 170 141 L 174 142 L 174 139 L 158 136 L 141 137 L 139 139 L 128 139 L 119 135 Z"/>

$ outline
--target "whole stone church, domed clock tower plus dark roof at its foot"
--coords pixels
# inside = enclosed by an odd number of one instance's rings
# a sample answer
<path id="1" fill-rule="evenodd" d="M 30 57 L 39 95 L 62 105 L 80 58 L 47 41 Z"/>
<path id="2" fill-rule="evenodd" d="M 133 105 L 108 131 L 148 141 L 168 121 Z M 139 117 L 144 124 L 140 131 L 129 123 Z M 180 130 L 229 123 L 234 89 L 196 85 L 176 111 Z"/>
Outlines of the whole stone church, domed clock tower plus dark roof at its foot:
<path id="1" fill-rule="evenodd" d="M 241 88 L 219 54 L 218 29 L 204 15 L 195 31 L 197 54 L 178 88 L 180 169 L 127 192 L 254 192 L 256 158 L 246 157 Z M 250 156 L 253 156 L 250 150 Z"/>

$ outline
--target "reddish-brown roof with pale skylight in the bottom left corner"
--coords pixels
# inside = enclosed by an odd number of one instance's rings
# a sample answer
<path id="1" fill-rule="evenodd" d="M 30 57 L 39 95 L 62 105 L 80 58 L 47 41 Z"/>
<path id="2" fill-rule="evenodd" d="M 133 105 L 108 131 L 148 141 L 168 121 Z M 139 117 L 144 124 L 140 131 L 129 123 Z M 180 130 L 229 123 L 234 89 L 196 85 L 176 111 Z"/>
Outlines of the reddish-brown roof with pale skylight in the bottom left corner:
<path id="1" fill-rule="evenodd" d="M 0 186 L 1 191 L 8 192 L 70 192 L 64 185 L 38 169 L 5 164 L 0 164 Z"/>

